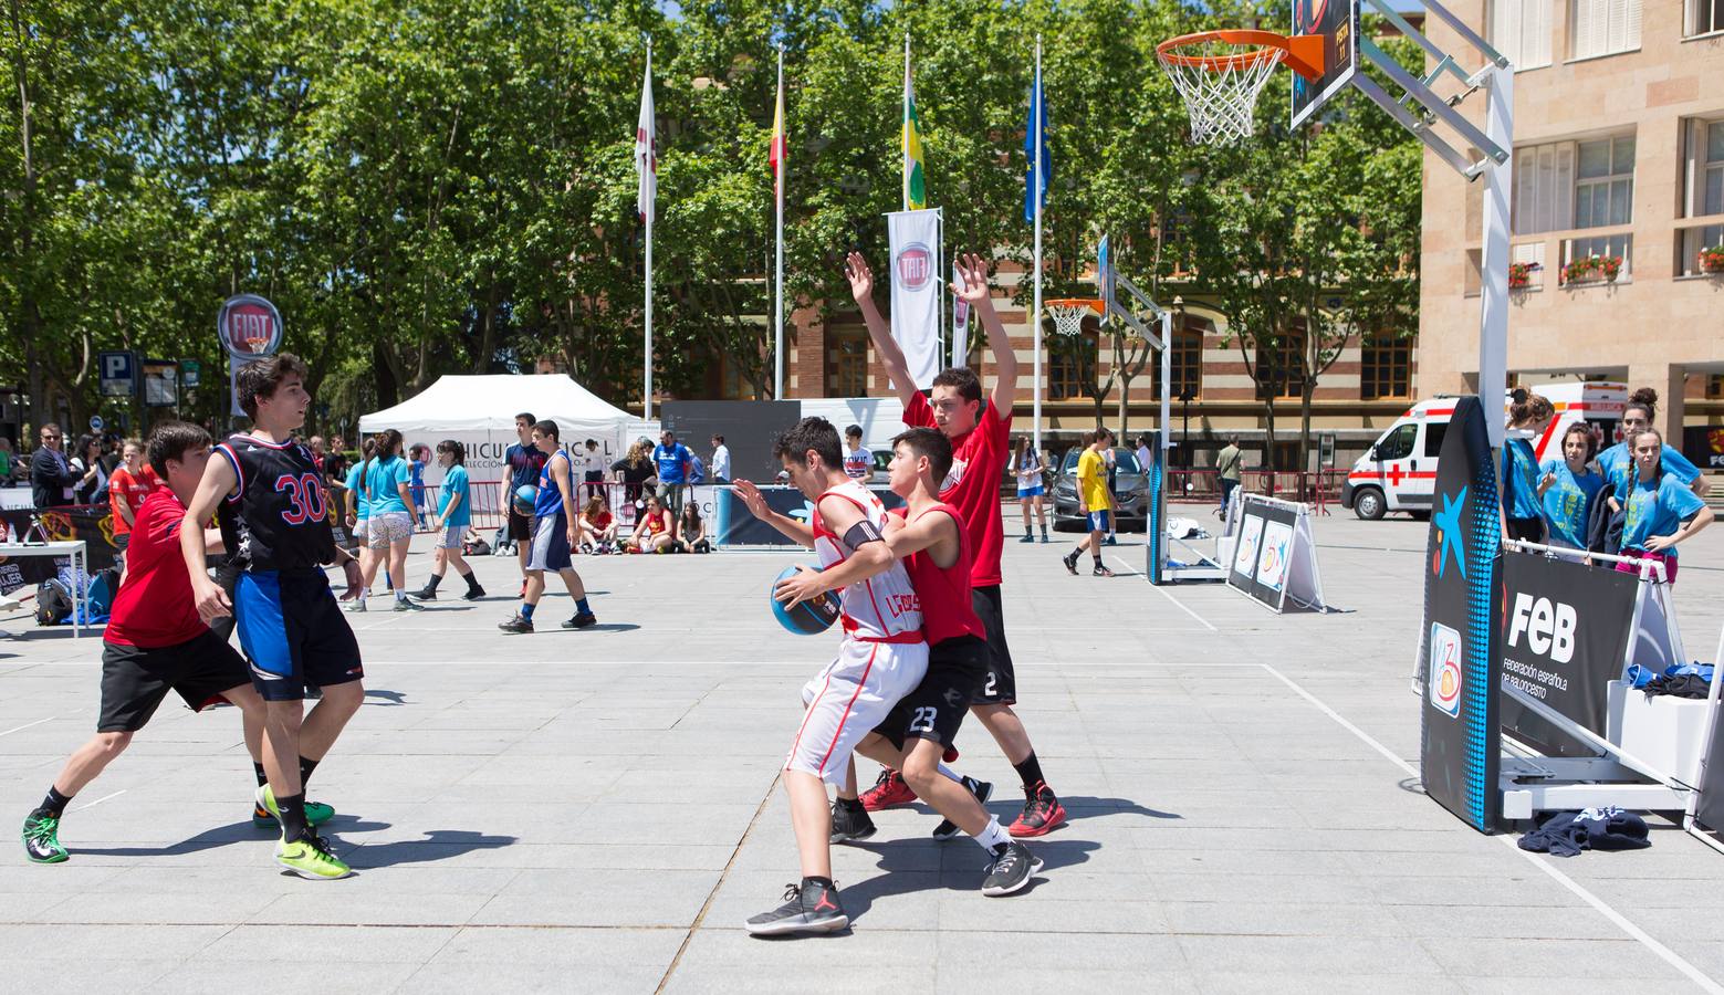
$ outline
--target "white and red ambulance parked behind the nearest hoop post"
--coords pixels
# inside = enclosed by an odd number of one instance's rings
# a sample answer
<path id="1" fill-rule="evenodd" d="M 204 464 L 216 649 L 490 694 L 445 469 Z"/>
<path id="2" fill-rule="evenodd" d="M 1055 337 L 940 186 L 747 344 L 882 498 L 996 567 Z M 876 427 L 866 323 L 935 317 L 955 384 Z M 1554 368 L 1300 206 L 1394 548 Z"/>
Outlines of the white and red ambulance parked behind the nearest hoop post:
<path id="1" fill-rule="evenodd" d="M 1526 390 L 1545 395 L 1557 409 L 1550 428 L 1533 440 L 1540 462 L 1562 457 L 1562 435 L 1571 424 L 1584 421 L 1593 426 L 1598 448 L 1615 445 L 1622 405 L 1627 402 L 1624 383 L 1545 383 Z M 1436 454 L 1443 452 L 1443 433 L 1455 416 L 1455 395 L 1438 395 L 1407 409 L 1395 424 L 1359 457 L 1341 485 L 1341 504 L 1362 519 L 1379 519 L 1388 512 L 1409 512 L 1422 519 L 1431 514 L 1436 495 Z M 1503 417 L 1508 400 L 1503 400 Z"/>

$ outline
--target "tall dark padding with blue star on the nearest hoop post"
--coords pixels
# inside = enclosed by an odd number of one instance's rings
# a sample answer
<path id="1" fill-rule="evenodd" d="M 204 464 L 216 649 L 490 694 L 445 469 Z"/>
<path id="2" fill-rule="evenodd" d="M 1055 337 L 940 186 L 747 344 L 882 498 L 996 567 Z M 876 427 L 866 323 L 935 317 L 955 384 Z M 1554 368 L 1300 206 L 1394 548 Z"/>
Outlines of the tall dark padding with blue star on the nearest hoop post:
<path id="1" fill-rule="evenodd" d="M 1462 397 L 1443 436 L 1419 633 L 1424 792 L 1481 833 L 1495 831 L 1502 812 L 1502 519 L 1486 417 L 1502 416 Z"/>

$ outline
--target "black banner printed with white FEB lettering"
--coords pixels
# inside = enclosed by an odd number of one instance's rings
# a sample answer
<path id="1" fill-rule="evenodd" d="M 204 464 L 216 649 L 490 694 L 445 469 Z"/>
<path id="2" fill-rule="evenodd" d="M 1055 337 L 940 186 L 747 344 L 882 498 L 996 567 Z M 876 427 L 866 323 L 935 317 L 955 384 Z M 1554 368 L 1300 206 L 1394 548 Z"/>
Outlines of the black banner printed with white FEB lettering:
<path id="1" fill-rule="evenodd" d="M 1608 567 L 1503 555 L 1502 683 L 1605 735 L 1607 685 L 1622 676 L 1640 581 Z M 1548 757 L 1598 750 L 1502 697 L 1502 729 Z"/>

